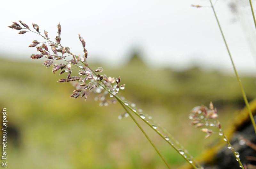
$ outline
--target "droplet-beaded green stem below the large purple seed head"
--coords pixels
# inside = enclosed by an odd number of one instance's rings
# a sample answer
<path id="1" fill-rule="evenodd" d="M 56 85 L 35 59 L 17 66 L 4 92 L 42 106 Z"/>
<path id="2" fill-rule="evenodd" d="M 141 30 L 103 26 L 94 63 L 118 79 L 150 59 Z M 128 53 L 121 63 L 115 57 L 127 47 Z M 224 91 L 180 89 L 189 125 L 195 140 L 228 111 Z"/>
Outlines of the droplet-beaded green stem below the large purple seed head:
<path id="1" fill-rule="evenodd" d="M 101 83 L 103 83 L 103 82 L 101 82 Z M 123 108 L 124 108 L 124 101 L 122 100 L 122 99 L 120 99 L 118 96 L 116 96 L 116 95 L 114 95 L 111 91 L 109 91 L 106 87 L 105 87 L 105 84 L 103 83 L 103 85 L 101 84 L 101 83 L 99 83 L 99 85 L 102 87 L 102 88 L 104 88 L 105 90 L 107 90 L 108 91 L 108 93 L 110 93 L 111 95 L 113 95 L 115 98 L 116 98 L 116 100 L 123 106 Z M 124 104 L 124 105 L 123 105 Z M 156 133 L 158 133 L 158 135 L 160 135 L 168 144 L 170 144 L 171 146 L 172 146 L 172 148 L 174 148 L 179 154 L 180 154 L 180 151 L 179 151 L 179 149 L 176 147 L 176 146 L 174 146 L 170 141 L 168 141 L 168 140 L 166 140 L 166 138 L 164 137 L 164 135 L 162 134 L 162 133 L 160 133 L 160 132 L 158 132 L 156 129 L 154 129 L 153 128 L 153 126 L 152 125 L 150 125 L 145 119 L 143 119 L 143 118 L 141 118 L 141 116 L 137 113 L 137 112 L 134 112 L 133 110 L 132 110 L 132 108 L 130 107 L 130 106 L 126 106 L 128 109 L 130 109 L 133 113 L 135 113 L 138 117 L 140 117 L 140 119 L 141 120 L 143 120 L 146 124 L 148 124 L 148 126 L 150 126 L 153 130 L 155 130 L 156 131 Z M 130 114 L 129 114 L 130 115 Z M 189 159 L 188 158 L 186 158 L 183 154 L 180 154 L 194 169 L 198 169 L 197 167 L 196 167 L 196 165 L 194 165 L 193 163 L 190 163 L 189 162 Z"/>

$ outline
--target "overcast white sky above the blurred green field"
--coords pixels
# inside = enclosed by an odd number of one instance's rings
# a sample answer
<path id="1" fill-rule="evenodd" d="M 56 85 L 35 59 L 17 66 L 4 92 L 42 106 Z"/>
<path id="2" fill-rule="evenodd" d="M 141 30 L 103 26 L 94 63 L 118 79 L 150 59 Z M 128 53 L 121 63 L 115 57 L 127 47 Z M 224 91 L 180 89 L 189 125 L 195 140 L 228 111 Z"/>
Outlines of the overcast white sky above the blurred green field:
<path id="1" fill-rule="evenodd" d="M 218 0 L 215 10 L 238 72 L 256 76 L 256 30 L 249 1 L 233 1 L 238 3 L 238 14 L 228 8 L 231 0 Z M 51 39 L 60 22 L 62 45 L 82 54 L 79 33 L 86 41 L 88 61 L 117 65 L 139 48 L 152 67 L 199 65 L 232 72 L 212 9 L 191 4 L 210 6 L 208 0 L 0 1 L 1 56 L 31 61 L 36 49 L 27 46 L 35 39 L 43 41 L 31 32 L 18 35 L 7 27 L 11 21 L 22 20 L 31 28 L 33 22 Z M 253 6 L 256 11 L 256 1 Z"/>

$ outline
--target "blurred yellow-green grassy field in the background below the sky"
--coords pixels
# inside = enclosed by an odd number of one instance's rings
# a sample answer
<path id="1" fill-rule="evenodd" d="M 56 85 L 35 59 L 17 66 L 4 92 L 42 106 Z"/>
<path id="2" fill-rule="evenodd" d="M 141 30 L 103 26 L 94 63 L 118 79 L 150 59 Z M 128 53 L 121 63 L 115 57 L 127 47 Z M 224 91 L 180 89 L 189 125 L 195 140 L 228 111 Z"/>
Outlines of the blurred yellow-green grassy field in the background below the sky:
<path id="1" fill-rule="evenodd" d="M 120 105 L 100 107 L 100 102 L 94 101 L 97 94 L 92 93 L 87 101 L 69 98 L 74 87 L 56 83 L 66 74 L 54 75 L 52 67 L 3 59 L 0 63 L 0 106 L 7 108 L 8 120 L 8 168 L 166 167 L 130 117 L 118 120 L 124 113 Z M 122 67 L 91 64 L 92 68 L 99 66 L 107 76 L 120 76 L 126 85 L 119 93 L 152 116 L 194 157 L 220 137 L 213 135 L 205 140 L 204 133 L 189 126 L 190 110 L 212 101 L 225 129 L 234 112 L 244 107 L 234 75 L 197 67 L 179 72 L 148 67 L 138 54 Z M 241 79 L 251 101 L 256 97 L 255 77 Z M 172 168 L 185 163 L 162 138 L 138 121 Z"/>

